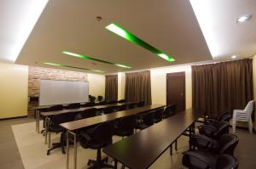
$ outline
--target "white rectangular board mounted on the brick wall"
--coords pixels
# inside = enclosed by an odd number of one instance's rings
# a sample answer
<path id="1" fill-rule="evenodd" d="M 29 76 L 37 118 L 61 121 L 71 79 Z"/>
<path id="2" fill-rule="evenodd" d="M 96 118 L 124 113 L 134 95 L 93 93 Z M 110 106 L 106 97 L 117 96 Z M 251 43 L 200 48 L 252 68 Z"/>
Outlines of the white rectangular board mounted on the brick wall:
<path id="1" fill-rule="evenodd" d="M 89 82 L 40 80 L 39 105 L 88 102 Z"/>

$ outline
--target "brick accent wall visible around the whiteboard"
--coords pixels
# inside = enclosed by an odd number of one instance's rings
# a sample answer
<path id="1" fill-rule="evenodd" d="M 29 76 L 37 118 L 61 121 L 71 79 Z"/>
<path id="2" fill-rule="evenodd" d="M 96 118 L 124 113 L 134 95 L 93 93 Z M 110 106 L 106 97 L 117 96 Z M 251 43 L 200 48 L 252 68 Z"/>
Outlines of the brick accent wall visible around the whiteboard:
<path id="1" fill-rule="evenodd" d="M 86 73 L 69 70 L 56 70 L 43 67 L 29 66 L 28 69 L 28 97 L 38 97 L 40 92 L 40 79 L 65 80 L 87 82 Z M 38 103 L 28 103 L 27 115 L 34 115 L 34 108 Z"/>

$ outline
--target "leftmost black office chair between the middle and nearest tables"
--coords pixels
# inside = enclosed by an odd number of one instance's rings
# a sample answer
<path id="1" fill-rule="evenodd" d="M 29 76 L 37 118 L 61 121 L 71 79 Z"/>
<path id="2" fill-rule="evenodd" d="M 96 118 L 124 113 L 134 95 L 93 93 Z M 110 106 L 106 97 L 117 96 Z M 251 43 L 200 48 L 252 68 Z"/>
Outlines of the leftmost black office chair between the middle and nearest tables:
<path id="1" fill-rule="evenodd" d="M 90 134 L 80 132 L 79 141 L 84 149 L 97 149 L 96 161 L 89 160 L 87 165 L 93 164 L 90 168 L 102 168 L 113 166 L 104 163 L 108 158 L 102 160 L 102 148 L 112 144 L 113 137 L 113 121 L 104 122 L 95 127 L 94 131 Z"/>

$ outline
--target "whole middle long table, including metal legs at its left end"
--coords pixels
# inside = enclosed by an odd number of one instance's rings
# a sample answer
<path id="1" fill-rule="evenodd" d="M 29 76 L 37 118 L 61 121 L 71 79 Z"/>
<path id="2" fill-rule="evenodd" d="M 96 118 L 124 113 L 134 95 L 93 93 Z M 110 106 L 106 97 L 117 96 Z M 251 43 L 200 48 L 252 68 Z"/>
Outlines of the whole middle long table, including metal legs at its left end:
<path id="1" fill-rule="evenodd" d="M 67 168 L 69 166 L 69 134 L 73 135 L 73 144 L 74 144 L 74 155 L 73 155 L 73 168 L 76 169 L 77 168 L 77 140 L 76 140 L 76 131 L 84 128 L 84 127 L 90 127 L 105 121 L 113 121 L 113 120 L 117 120 L 119 118 L 125 117 L 125 116 L 129 116 L 129 115 L 138 115 L 150 110 L 156 110 L 159 109 L 161 107 L 164 107 L 165 105 L 162 104 L 153 104 L 153 105 L 147 105 L 147 106 L 143 106 L 143 107 L 139 107 L 136 109 L 131 109 L 131 110 L 123 110 L 123 111 L 118 111 L 115 113 L 110 113 L 108 115 L 98 115 L 95 117 L 90 117 L 90 118 L 86 118 L 86 119 L 81 119 L 78 121 L 70 121 L 70 122 L 66 122 L 66 123 L 62 123 L 60 126 L 64 127 L 67 129 L 67 147 L 66 147 L 66 153 L 67 153 Z"/>

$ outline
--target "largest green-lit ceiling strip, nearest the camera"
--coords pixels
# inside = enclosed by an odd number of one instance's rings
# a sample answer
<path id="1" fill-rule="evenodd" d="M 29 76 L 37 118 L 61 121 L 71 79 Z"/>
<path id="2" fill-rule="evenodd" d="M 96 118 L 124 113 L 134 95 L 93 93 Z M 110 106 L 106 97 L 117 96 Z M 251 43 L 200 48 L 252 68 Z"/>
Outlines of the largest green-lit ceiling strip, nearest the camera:
<path id="1" fill-rule="evenodd" d="M 163 59 L 166 59 L 169 62 L 175 61 L 175 59 L 173 59 L 172 56 L 164 54 L 159 49 L 154 48 L 153 46 L 148 44 L 148 42 L 144 42 L 142 39 L 131 34 L 131 32 L 125 30 L 124 28 L 120 27 L 119 25 L 112 23 L 110 25 L 107 25 L 105 28 L 108 29 L 108 31 L 112 31 L 113 33 L 119 35 L 120 37 L 124 37 L 126 40 L 133 42 L 142 48 L 148 49 L 150 52 L 157 54 L 158 56 L 160 56 Z"/>

